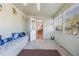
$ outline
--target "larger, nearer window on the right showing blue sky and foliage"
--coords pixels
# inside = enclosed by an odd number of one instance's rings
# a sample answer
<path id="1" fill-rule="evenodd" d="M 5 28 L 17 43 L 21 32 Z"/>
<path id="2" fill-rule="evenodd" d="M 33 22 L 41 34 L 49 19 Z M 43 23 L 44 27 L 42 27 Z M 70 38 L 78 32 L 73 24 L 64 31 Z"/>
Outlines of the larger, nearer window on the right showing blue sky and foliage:
<path id="1" fill-rule="evenodd" d="M 66 13 L 65 33 L 79 35 L 79 6 L 69 10 Z"/>

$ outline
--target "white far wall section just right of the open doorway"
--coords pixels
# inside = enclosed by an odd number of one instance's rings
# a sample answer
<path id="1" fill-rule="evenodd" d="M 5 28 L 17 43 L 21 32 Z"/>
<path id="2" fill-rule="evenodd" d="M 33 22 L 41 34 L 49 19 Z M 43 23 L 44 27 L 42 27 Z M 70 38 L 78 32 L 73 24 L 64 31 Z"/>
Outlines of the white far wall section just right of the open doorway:
<path id="1" fill-rule="evenodd" d="M 51 34 L 53 33 L 53 19 L 44 19 L 44 30 L 43 36 L 44 39 L 50 39 Z"/>

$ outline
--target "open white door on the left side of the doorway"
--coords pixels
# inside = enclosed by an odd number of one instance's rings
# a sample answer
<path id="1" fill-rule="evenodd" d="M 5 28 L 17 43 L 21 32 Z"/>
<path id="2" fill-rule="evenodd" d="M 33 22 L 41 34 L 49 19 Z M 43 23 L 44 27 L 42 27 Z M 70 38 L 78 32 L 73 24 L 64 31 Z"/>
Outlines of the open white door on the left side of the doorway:
<path id="1" fill-rule="evenodd" d="M 36 19 L 30 17 L 30 41 L 36 40 Z"/>

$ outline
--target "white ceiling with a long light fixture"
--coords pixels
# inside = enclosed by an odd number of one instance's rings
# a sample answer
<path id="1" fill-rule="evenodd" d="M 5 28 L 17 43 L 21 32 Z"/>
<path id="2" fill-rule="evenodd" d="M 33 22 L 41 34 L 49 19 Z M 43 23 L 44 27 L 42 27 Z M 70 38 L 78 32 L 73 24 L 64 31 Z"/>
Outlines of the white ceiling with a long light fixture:
<path id="1" fill-rule="evenodd" d="M 31 16 L 52 16 L 63 3 L 40 3 L 40 11 L 37 10 L 36 3 L 28 3 L 24 6 L 22 3 L 15 3 L 16 7 L 22 10 L 26 15 Z"/>

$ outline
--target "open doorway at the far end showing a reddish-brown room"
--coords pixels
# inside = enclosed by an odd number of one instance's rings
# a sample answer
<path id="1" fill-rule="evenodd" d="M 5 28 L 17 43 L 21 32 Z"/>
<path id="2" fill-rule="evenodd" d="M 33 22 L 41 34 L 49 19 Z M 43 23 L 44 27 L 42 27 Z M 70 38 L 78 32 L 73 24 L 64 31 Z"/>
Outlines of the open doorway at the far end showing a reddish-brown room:
<path id="1" fill-rule="evenodd" d="M 43 39 L 43 20 L 36 21 L 36 39 Z"/>

